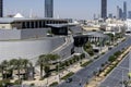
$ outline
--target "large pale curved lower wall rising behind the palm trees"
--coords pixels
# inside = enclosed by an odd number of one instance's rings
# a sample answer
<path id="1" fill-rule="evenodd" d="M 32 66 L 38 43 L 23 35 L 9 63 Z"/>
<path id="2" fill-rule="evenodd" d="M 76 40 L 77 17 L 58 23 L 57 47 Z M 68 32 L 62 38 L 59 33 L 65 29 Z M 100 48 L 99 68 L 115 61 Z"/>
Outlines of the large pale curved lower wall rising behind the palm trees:
<path id="1" fill-rule="evenodd" d="M 64 42 L 64 37 L 48 37 L 32 40 L 0 41 L 0 62 L 10 59 L 34 59 L 49 53 Z"/>

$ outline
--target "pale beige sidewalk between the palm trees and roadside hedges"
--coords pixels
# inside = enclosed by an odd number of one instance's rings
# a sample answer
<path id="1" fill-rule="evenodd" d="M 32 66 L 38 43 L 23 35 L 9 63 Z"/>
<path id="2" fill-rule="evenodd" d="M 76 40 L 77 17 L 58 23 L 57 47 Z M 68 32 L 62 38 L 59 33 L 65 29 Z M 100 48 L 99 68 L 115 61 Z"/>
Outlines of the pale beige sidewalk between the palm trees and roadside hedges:
<path id="1" fill-rule="evenodd" d="M 83 63 L 88 61 L 87 59 L 84 59 L 83 60 Z M 83 67 L 81 67 L 80 63 L 76 63 L 74 65 L 71 65 L 69 69 L 64 70 L 63 72 L 60 72 L 59 73 L 59 76 L 60 78 L 66 76 L 67 74 L 69 74 L 70 72 L 73 72 L 73 73 L 76 73 L 78 71 L 82 70 Z M 59 77 L 58 75 L 52 75 L 48 78 L 45 78 L 44 80 L 39 80 L 39 76 L 35 76 L 35 80 L 23 80 L 23 85 L 31 85 L 31 84 L 34 84 L 35 86 L 43 86 L 43 87 L 46 87 L 46 86 L 49 86 L 50 84 L 55 83 L 55 82 L 58 82 L 59 80 Z M 62 83 L 64 80 L 60 80 L 60 83 Z"/>

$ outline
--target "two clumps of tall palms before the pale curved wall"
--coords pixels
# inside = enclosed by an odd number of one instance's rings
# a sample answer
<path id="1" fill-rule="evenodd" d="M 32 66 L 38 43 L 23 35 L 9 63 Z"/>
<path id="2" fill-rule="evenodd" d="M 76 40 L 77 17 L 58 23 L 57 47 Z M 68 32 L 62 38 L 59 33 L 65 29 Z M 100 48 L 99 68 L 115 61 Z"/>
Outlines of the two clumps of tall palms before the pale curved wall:
<path id="1" fill-rule="evenodd" d="M 44 76 L 43 75 L 44 71 L 46 74 L 49 73 L 49 64 L 58 59 L 60 59 L 58 54 L 43 54 L 38 58 L 36 65 L 40 66 L 40 77 Z M 4 60 L 0 64 L 2 79 L 12 79 L 13 75 L 15 74 L 17 75 L 19 79 L 21 79 L 22 72 L 24 72 L 22 78 L 27 79 L 27 69 L 32 66 L 33 66 L 32 62 L 27 59 Z"/>

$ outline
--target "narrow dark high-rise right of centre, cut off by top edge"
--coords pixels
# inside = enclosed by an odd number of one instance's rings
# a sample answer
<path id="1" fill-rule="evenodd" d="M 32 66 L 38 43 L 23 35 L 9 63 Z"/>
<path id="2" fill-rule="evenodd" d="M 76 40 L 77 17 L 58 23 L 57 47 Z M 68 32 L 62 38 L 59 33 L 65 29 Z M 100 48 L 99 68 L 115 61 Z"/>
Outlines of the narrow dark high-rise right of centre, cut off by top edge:
<path id="1" fill-rule="evenodd" d="M 102 0 L 102 18 L 107 18 L 107 0 Z"/>

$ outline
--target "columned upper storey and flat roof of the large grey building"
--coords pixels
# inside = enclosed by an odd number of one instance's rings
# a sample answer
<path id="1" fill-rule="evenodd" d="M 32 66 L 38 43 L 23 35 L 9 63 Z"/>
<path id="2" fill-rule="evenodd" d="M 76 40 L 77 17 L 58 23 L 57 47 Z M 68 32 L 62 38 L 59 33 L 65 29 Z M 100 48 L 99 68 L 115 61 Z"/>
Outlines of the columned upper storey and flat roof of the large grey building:
<path id="1" fill-rule="evenodd" d="M 4 29 L 26 29 L 26 28 L 47 28 L 47 24 L 67 24 L 67 20 L 57 18 L 24 18 L 4 17 L 0 18 L 0 28 Z"/>

